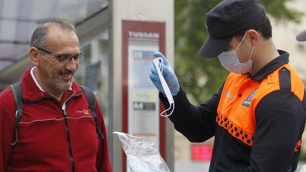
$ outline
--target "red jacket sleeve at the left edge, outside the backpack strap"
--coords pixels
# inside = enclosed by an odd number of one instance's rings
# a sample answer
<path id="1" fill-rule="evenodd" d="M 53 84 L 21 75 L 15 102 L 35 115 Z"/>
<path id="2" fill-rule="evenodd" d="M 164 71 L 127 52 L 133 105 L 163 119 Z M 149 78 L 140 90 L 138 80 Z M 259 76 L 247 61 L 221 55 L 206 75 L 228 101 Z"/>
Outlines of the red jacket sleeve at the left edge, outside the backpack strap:
<path id="1" fill-rule="evenodd" d="M 0 103 L 0 172 L 5 172 L 12 149 L 10 143 L 14 141 L 15 119 L 10 111 Z"/>

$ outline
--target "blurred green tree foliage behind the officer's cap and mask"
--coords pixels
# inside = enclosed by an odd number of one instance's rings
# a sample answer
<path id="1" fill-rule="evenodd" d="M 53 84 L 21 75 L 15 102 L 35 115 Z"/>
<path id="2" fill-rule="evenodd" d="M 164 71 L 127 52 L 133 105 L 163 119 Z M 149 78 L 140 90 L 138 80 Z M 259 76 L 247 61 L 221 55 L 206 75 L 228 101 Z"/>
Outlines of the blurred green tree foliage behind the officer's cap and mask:
<path id="1" fill-rule="evenodd" d="M 259 0 L 278 20 L 300 21 L 300 12 L 286 7 L 291 0 Z M 205 14 L 221 0 L 175 0 L 175 73 L 192 103 L 205 102 L 222 86 L 229 71 L 218 58 L 197 55 L 208 33 Z"/>

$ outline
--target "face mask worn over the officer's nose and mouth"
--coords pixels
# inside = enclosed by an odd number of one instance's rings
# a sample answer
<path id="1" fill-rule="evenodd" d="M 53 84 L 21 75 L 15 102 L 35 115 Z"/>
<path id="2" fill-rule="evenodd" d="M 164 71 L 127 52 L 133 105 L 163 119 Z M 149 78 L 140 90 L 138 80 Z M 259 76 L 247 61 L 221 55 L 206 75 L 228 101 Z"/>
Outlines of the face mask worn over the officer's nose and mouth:
<path id="1" fill-rule="evenodd" d="M 243 38 L 242 38 L 241 42 L 239 43 L 239 45 L 237 46 L 236 50 L 224 51 L 218 56 L 221 65 L 225 69 L 228 69 L 231 72 L 247 73 L 247 72 L 250 72 L 251 69 L 252 69 L 251 56 L 252 56 L 252 53 L 253 53 L 253 50 L 254 50 L 254 46 L 252 48 L 249 61 L 247 61 L 245 63 L 240 63 L 239 58 L 238 58 L 237 53 L 236 53 L 238 47 L 242 43 L 245 36 L 246 36 L 246 34 L 243 36 Z"/>

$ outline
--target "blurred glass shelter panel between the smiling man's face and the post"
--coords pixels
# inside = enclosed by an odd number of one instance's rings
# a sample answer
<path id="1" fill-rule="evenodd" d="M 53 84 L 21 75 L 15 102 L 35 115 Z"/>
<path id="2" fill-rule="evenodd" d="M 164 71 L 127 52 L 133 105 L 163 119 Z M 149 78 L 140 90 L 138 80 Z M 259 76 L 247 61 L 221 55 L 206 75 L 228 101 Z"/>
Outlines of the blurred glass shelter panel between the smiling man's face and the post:
<path id="1" fill-rule="evenodd" d="M 103 113 L 107 135 L 110 135 L 109 121 L 109 36 L 104 32 L 100 36 L 80 46 L 86 54 L 83 63 L 77 69 L 76 83 L 90 88 L 96 95 Z"/>

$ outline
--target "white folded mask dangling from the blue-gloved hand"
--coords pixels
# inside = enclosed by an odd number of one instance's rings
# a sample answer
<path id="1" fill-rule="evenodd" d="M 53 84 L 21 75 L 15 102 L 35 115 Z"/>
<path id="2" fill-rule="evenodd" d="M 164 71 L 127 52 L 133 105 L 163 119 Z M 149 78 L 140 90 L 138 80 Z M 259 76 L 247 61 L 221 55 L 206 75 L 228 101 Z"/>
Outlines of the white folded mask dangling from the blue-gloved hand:
<path id="1" fill-rule="evenodd" d="M 161 60 L 160 67 L 158 67 L 159 60 Z M 173 110 L 174 110 L 174 100 L 173 100 L 172 94 L 170 92 L 170 89 L 169 89 L 169 87 L 168 87 L 164 77 L 161 74 L 162 69 L 163 69 L 163 64 L 164 64 L 163 59 L 158 57 L 158 58 L 154 59 L 153 62 L 154 62 L 154 66 L 155 66 L 155 68 L 157 70 L 157 73 L 158 73 L 158 76 L 159 76 L 159 79 L 160 79 L 160 82 L 161 82 L 161 86 L 164 89 L 166 97 L 167 97 L 168 102 L 170 104 L 170 107 L 168 109 L 164 110 L 163 112 L 161 112 L 160 116 L 167 117 L 167 116 L 170 116 L 172 114 Z M 163 115 L 164 112 L 166 112 L 167 110 L 169 110 L 171 108 L 172 104 L 173 104 L 173 108 L 172 108 L 171 113 L 169 115 Z"/>

